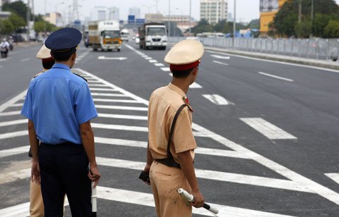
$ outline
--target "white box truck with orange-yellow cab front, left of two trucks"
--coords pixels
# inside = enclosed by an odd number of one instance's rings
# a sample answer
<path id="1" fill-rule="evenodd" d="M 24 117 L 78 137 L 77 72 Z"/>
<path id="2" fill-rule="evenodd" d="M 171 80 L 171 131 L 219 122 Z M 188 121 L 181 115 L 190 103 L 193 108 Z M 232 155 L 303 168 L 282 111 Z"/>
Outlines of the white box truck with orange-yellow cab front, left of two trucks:
<path id="1" fill-rule="evenodd" d="M 97 49 L 121 50 L 119 20 L 91 21 L 88 23 L 88 45 Z"/>

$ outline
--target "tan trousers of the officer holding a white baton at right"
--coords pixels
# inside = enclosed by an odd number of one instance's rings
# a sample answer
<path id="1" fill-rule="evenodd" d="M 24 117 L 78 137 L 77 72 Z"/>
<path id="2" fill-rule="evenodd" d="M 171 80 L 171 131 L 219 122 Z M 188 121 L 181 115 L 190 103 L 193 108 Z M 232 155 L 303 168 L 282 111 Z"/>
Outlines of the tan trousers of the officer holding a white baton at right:
<path id="1" fill-rule="evenodd" d="M 180 187 L 191 192 L 189 182 L 184 177 L 182 170 L 154 161 L 150 166 L 150 185 L 157 217 L 192 216 L 191 203 L 177 193 Z"/>

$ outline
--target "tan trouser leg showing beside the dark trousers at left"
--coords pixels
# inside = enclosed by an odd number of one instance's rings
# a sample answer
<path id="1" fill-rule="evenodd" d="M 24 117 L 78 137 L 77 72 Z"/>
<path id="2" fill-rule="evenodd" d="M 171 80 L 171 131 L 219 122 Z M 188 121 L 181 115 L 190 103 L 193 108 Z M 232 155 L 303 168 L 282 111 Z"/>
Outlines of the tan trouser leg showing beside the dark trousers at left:
<path id="1" fill-rule="evenodd" d="M 44 203 L 42 202 L 41 185 L 30 181 L 30 217 L 43 217 Z"/>

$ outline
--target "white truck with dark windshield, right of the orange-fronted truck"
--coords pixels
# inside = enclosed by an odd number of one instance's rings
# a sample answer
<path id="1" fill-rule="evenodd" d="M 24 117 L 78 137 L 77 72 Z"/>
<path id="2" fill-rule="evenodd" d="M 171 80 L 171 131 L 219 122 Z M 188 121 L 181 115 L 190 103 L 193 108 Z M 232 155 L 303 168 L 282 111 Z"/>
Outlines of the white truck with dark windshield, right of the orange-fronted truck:
<path id="1" fill-rule="evenodd" d="M 163 23 L 145 23 L 138 28 L 141 49 L 166 49 L 167 30 Z"/>

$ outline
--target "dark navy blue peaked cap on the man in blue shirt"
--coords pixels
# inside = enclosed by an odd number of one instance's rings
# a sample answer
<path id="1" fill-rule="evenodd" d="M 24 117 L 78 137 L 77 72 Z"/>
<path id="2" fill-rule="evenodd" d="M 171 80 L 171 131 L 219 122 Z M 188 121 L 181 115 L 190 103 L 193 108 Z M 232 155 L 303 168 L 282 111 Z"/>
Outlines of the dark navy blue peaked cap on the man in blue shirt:
<path id="1" fill-rule="evenodd" d="M 66 27 L 49 35 L 44 45 L 51 49 L 51 51 L 69 53 L 70 50 L 73 50 L 80 44 L 82 38 L 83 36 L 79 30 Z"/>

